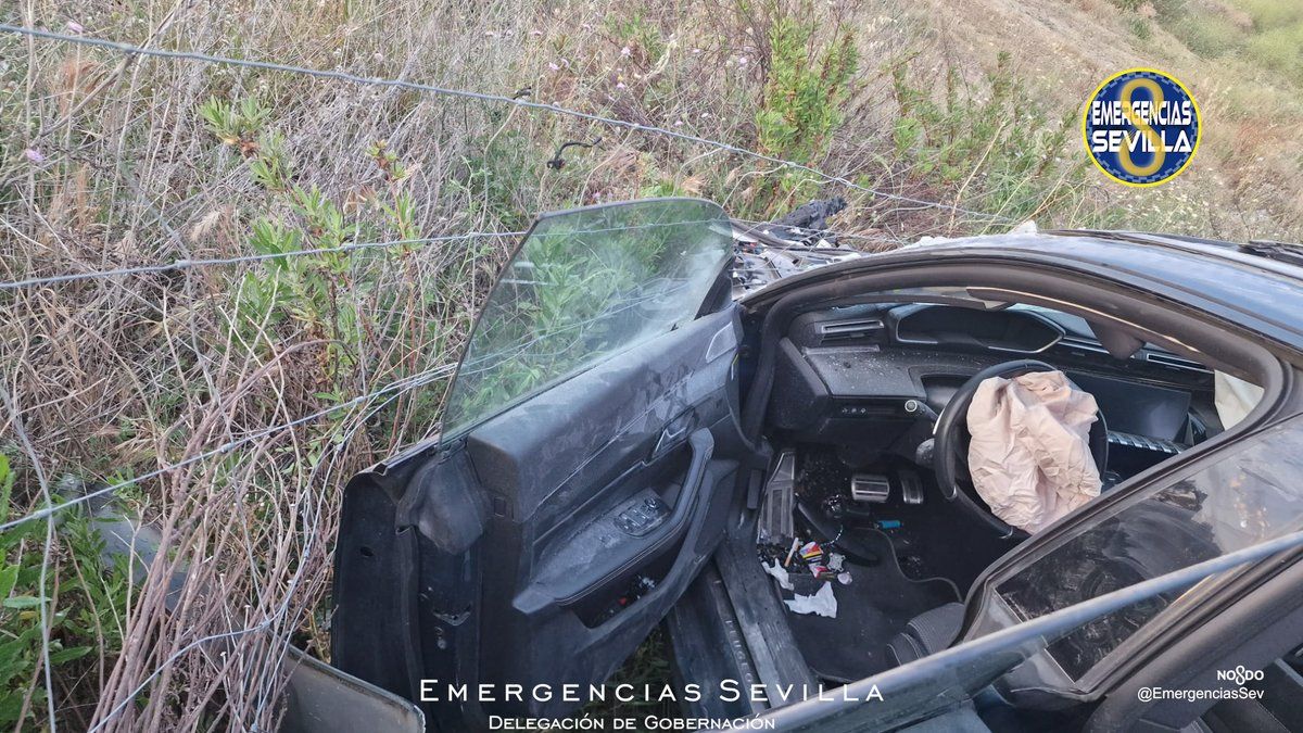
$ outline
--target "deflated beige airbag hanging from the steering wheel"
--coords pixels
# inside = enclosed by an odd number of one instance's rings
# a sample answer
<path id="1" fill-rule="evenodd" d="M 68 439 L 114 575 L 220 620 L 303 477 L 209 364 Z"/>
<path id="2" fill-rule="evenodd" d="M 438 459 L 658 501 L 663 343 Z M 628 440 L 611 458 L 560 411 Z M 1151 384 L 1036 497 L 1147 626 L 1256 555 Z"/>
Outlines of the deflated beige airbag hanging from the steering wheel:
<path id="1" fill-rule="evenodd" d="M 982 381 L 968 408 L 968 471 L 992 513 L 1037 532 L 1100 496 L 1095 396 L 1063 372 Z"/>

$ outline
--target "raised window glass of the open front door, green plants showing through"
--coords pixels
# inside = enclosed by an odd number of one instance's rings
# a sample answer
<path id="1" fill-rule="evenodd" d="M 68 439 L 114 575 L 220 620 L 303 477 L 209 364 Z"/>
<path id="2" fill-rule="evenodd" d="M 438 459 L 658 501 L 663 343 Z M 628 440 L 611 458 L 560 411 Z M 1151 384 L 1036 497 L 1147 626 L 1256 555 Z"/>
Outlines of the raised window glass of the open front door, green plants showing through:
<path id="1" fill-rule="evenodd" d="M 539 218 L 470 337 L 444 437 L 692 321 L 731 252 L 732 226 L 709 201 L 632 201 Z"/>

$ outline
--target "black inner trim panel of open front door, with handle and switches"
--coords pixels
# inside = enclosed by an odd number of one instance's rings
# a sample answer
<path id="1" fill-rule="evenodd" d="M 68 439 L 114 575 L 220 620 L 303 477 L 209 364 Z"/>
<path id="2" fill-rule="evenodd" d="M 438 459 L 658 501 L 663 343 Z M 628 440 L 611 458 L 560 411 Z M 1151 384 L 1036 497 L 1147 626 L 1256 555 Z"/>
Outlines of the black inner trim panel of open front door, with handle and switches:
<path id="1" fill-rule="evenodd" d="M 599 682 L 700 571 L 735 483 L 736 456 L 722 446 L 739 440 L 739 329 L 730 307 L 468 436 L 496 507 L 481 554 L 495 573 L 483 574 L 482 592 L 512 599 L 483 605 L 494 633 L 481 648 L 482 680 Z M 564 704 L 498 707 L 549 715 Z"/>

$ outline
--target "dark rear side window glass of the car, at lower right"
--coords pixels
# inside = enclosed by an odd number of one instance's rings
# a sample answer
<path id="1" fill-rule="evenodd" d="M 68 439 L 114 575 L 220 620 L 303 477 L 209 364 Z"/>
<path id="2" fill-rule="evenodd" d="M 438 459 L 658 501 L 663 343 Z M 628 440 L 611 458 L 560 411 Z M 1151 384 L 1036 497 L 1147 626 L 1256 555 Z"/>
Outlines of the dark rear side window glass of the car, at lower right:
<path id="1" fill-rule="evenodd" d="M 1231 449 L 1218 463 L 1119 506 L 997 587 L 1023 618 L 1303 528 L 1303 417 Z M 1153 597 L 1049 647 L 1074 680 L 1178 600 Z"/>

